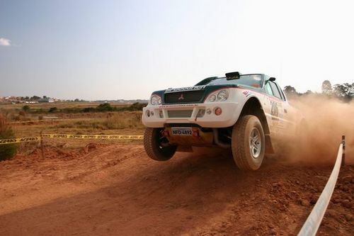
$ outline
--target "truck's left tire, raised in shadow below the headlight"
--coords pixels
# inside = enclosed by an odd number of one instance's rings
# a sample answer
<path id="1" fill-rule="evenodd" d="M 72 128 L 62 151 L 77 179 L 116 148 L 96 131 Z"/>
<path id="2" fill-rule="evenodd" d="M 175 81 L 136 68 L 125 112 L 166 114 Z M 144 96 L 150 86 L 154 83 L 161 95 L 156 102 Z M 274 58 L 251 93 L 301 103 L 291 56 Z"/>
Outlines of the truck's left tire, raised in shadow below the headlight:
<path id="1" fill-rule="evenodd" d="M 144 132 L 144 148 L 147 155 L 155 161 L 167 161 L 175 154 L 177 146 L 170 145 L 162 135 L 163 128 L 146 128 Z"/>

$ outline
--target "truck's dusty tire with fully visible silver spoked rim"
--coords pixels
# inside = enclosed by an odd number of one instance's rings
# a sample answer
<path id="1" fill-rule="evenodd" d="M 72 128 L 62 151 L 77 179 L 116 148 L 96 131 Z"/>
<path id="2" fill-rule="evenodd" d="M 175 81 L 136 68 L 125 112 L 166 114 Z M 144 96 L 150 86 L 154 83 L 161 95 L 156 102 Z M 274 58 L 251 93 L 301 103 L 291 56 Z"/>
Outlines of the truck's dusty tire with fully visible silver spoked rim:
<path id="1" fill-rule="evenodd" d="M 241 116 L 232 129 L 232 155 L 241 170 L 261 167 L 265 154 L 265 137 L 256 116 Z"/>

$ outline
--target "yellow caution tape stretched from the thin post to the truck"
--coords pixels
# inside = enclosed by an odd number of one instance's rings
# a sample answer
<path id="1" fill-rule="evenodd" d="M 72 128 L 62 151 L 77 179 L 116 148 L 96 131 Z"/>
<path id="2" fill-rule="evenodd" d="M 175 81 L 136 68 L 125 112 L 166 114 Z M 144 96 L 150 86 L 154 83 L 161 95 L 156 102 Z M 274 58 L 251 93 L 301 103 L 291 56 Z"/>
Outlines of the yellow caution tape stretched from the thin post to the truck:
<path id="1" fill-rule="evenodd" d="M 42 137 L 49 138 L 75 138 L 75 139 L 96 139 L 96 140 L 142 140 L 143 135 L 64 135 L 64 134 L 43 134 Z"/>

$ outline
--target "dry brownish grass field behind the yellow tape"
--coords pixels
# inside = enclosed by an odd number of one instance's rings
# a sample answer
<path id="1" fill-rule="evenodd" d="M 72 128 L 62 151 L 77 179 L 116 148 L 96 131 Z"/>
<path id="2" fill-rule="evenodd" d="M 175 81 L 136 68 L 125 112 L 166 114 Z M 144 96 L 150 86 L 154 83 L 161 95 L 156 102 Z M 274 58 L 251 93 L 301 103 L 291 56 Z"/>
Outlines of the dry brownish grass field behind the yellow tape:
<path id="1" fill-rule="evenodd" d="M 60 112 L 64 108 L 95 108 L 100 103 L 35 103 L 28 104 L 30 109 L 23 111 L 23 104 L 0 105 L 0 113 L 11 124 L 16 137 L 33 137 L 40 133 L 53 134 L 97 134 L 97 135 L 142 135 L 142 111 L 109 112 Z M 128 107 L 130 104 L 110 103 L 113 107 Z M 59 112 L 49 113 L 48 109 L 57 107 Z M 35 112 L 33 112 L 35 111 Z M 42 112 L 40 112 L 42 111 Z M 45 140 L 46 145 L 81 147 L 93 140 Z M 94 140 L 107 142 L 141 142 L 141 140 Z M 34 144 L 38 145 L 38 144 Z M 31 144 L 21 144 L 21 150 L 28 150 Z M 29 148 L 32 149 L 32 148 Z"/>

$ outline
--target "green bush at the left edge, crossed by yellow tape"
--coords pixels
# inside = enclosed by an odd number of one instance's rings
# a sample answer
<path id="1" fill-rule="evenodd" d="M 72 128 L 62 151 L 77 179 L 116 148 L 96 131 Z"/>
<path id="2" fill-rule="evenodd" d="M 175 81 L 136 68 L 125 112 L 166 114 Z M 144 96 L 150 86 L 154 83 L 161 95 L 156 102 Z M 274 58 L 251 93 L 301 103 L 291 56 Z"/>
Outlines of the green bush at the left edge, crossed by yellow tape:
<path id="1" fill-rule="evenodd" d="M 0 140 L 6 140 L 14 137 L 15 134 L 13 133 L 11 126 L 7 125 L 6 120 L 0 116 Z M 16 154 L 16 152 L 16 144 L 0 145 L 0 161 L 10 159 Z"/>

